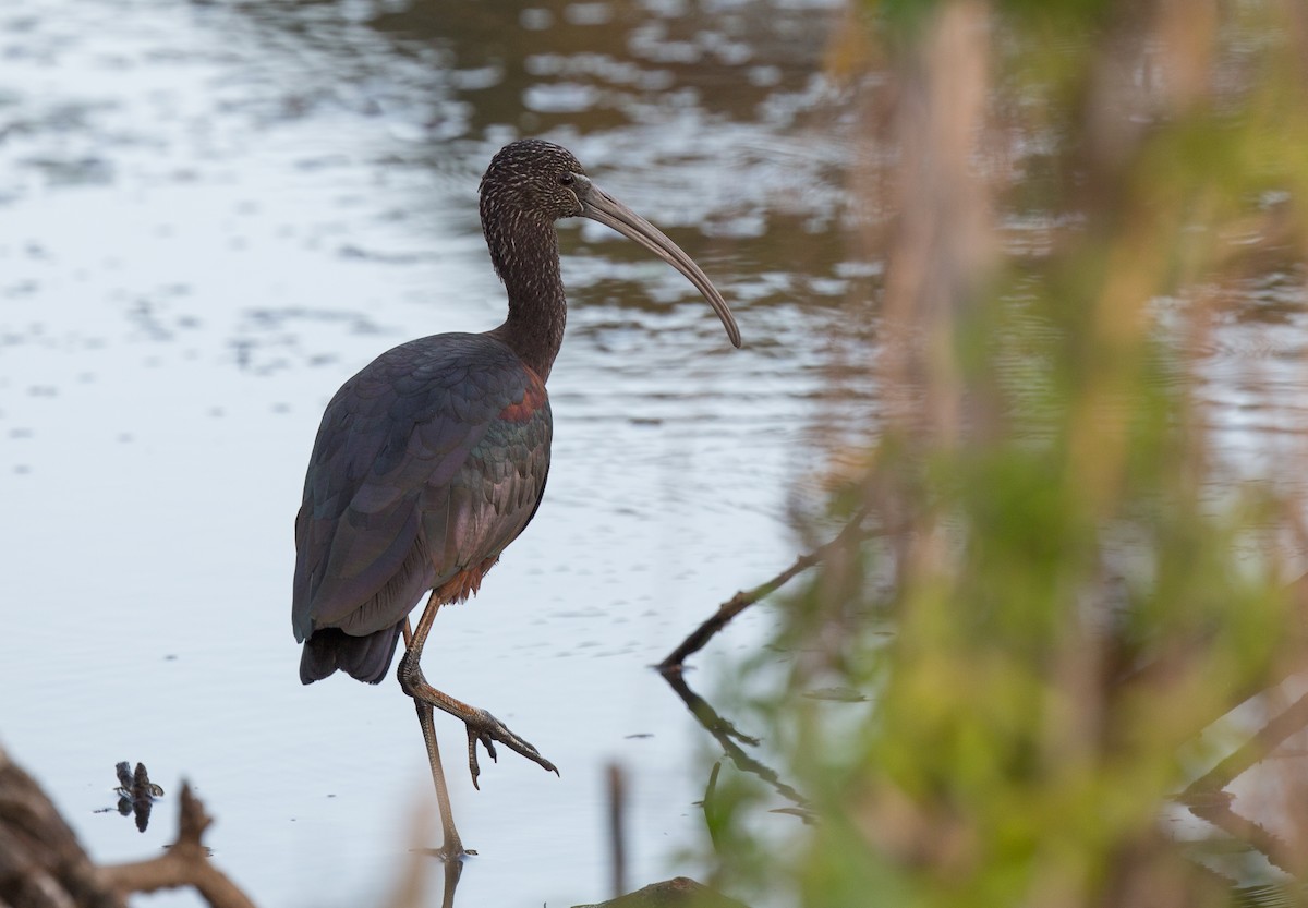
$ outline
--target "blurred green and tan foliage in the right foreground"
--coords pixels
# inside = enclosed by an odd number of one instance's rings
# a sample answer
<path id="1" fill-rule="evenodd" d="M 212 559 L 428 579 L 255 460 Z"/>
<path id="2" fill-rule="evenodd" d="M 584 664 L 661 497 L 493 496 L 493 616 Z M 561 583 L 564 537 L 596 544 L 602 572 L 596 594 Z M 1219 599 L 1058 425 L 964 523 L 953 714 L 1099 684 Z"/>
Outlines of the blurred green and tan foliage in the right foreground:
<path id="1" fill-rule="evenodd" d="M 899 353 L 869 356 L 886 406 L 833 458 L 829 515 L 867 509 L 880 534 L 786 598 L 732 682 L 818 822 L 778 832 L 768 786 L 715 773 L 721 879 L 806 905 L 1232 904 L 1182 840 L 1218 833 L 1165 816 L 1231 743 L 1199 733 L 1300 667 L 1282 543 L 1303 502 L 1223 470 L 1194 362 L 1236 281 L 1303 260 L 1308 12 L 886 0 L 850 20 L 833 60 L 878 73 L 866 141 L 918 149 L 854 181 Z M 973 111 L 955 68 L 985 73 Z"/>

